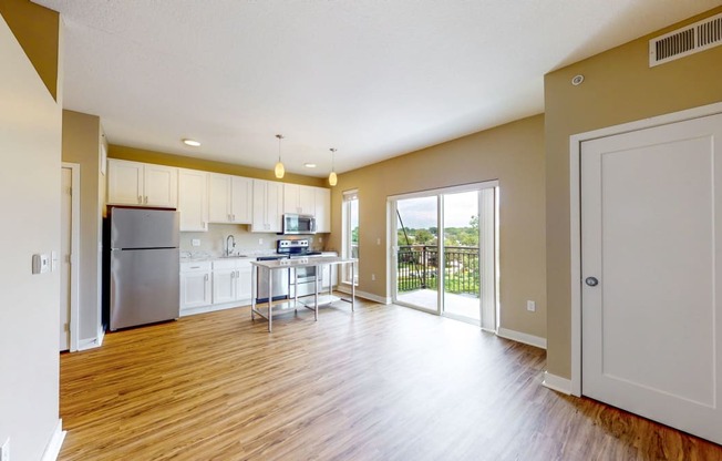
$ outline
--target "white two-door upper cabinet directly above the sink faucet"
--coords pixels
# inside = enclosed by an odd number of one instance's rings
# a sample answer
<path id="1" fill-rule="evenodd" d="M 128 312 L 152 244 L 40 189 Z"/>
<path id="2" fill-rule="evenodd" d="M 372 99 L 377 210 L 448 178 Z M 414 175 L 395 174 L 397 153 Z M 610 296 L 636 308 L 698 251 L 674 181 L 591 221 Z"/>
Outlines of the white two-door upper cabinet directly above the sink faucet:
<path id="1" fill-rule="evenodd" d="M 208 217 L 210 223 L 249 224 L 252 207 L 252 180 L 210 173 Z"/>

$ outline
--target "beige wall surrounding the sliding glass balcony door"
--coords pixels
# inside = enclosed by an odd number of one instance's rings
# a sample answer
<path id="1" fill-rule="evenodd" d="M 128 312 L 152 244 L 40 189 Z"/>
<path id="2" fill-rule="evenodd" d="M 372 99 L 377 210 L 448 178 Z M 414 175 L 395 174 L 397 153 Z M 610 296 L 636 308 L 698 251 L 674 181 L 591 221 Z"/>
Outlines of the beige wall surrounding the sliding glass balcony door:
<path id="1" fill-rule="evenodd" d="M 386 289 L 386 197 L 489 180 L 498 180 L 501 188 L 501 325 L 546 338 L 543 115 L 340 175 L 332 189 L 329 247 L 341 247 L 341 193 L 358 188 L 359 289 L 391 296 Z M 526 310 L 527 299 L 537 301 L 536 313 Z"/>

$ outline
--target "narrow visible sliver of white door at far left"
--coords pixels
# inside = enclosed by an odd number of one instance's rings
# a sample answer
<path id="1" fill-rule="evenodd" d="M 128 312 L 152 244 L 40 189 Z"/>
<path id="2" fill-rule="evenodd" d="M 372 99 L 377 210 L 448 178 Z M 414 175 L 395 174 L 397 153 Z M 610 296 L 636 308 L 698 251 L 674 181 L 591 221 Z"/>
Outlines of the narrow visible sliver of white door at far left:
<path id="1" fill-rule="evenodd" d="M 60 263 L 60 350 L 70 349 L 70 306 L 71 306 L 71 273 L 70 254 L 72 252 L 72 187 L 71 168 L 61 168 L 61 263 Z"/>

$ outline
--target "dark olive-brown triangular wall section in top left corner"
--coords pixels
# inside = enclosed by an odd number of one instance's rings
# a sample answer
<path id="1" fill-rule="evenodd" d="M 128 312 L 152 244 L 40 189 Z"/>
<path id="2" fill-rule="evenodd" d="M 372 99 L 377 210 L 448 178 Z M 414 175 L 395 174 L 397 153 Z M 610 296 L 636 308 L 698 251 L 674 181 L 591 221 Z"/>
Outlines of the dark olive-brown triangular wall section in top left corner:
<path id="1" fill-rule="evenodd" d="M 28 0 L 0 0 L 0 14 L 50 94 L 58 100 L 60 16 Z"/>

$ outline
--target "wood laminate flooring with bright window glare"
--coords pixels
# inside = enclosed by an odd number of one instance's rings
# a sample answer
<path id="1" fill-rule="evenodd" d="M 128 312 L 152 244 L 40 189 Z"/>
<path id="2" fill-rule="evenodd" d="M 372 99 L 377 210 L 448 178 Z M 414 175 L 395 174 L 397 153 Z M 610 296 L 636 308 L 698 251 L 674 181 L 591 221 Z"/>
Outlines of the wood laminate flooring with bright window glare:
<path id="1" fill-rule="evenodd" d="M 61 357 L 60 460 L 722 460 L 542 386 L 545 351 L 398 306 L 247 307 Z"/>

